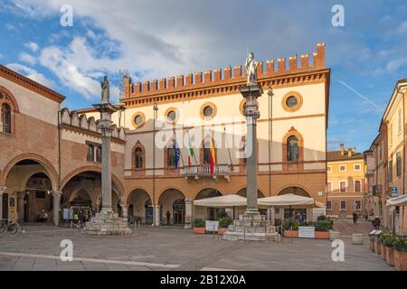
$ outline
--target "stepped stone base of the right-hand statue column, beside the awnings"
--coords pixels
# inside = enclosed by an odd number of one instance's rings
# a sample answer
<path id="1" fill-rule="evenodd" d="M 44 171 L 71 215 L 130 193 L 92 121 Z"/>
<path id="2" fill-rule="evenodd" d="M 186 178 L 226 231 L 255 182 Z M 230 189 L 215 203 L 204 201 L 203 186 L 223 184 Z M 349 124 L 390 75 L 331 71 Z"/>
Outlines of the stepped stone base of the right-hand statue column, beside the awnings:
<path id="1" fill-rule="evenodd" d="M 223 234 L 223 239 L 229 241 L 277 241 L 279 237 L 276 227 L 258 210 L 246 210 Z"/>

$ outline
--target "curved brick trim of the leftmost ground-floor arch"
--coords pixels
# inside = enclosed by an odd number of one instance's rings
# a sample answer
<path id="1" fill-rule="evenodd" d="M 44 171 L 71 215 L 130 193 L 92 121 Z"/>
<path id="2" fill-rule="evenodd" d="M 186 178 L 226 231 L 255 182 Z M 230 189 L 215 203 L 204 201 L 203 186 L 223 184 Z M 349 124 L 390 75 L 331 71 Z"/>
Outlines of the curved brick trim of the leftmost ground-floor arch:
<path id="1" fill-rule="evenodd" d="M 50 178 L 52 182 L 52 190 L 57 191 L 59 189 L 58 185 L 58 172 L 55 170 L 53 167 L 52 163 L 47 160 L 45 157 L 43 157 L 40 154 L 34 154 L 34 153 L 26 153 L 26 154 L 20 154 L 14 157 L 11 161 L 9 161 L 5 165 L 5 169 L 3 170 L 3 173 L 1 175 L 0 179 L 0 186 L 5 186 L 5 181 L 7 179 L 7 176 L 9 172 L 13 169 L 14 165 L 18 162 L 24 161 L 24 160 L 33 160 L 37 163 L 40 163 L 45 171 L 47 172 L 46 174 Z"/>

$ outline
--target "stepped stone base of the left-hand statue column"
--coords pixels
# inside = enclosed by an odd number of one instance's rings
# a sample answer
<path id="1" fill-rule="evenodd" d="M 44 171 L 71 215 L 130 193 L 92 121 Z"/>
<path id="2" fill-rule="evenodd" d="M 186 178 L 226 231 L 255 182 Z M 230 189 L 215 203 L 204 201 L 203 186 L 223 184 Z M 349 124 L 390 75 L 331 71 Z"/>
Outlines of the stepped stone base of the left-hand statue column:
<path id="1" fill-rule="evenodd" d="M 128 222 L 119 218 L 113 210 L 102 209 L 96 216 L 86 223 L 84 231 L 88 235 L 129 235 L 131 229 L 128 228 Z"/>

